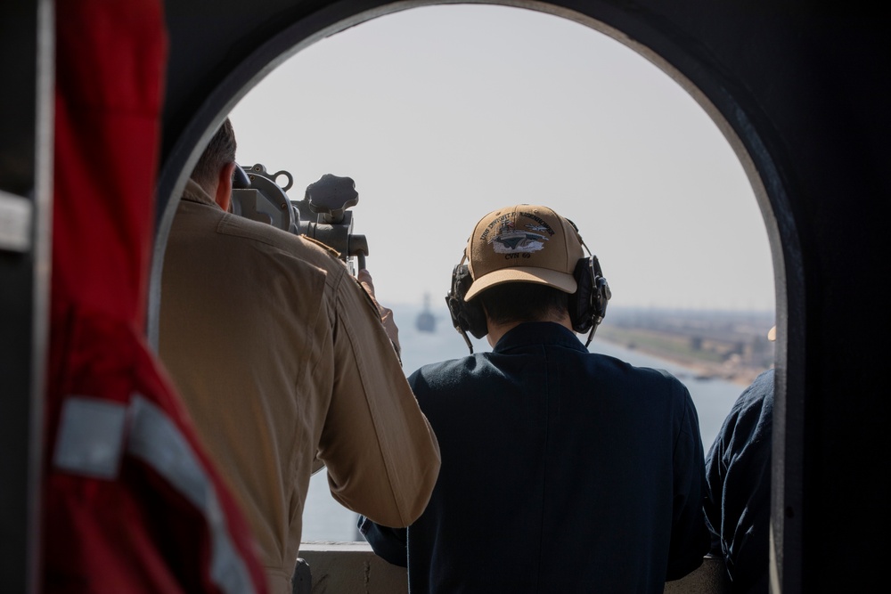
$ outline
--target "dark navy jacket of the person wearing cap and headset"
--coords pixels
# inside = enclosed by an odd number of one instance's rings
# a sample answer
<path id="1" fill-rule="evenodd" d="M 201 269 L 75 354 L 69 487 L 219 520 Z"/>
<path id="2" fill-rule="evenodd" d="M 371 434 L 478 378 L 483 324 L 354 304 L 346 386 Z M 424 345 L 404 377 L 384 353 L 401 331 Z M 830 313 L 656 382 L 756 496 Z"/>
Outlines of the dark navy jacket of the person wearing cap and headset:
<path id="1" fill-rule="evenodd" d="M 409 383 L 439 440 L 437 485 L 407 530 L 359 524 L 407 563 L 412 594 L 662 592 L 702 563 L 699 419 L 667 372 L 535 322 Z"/>

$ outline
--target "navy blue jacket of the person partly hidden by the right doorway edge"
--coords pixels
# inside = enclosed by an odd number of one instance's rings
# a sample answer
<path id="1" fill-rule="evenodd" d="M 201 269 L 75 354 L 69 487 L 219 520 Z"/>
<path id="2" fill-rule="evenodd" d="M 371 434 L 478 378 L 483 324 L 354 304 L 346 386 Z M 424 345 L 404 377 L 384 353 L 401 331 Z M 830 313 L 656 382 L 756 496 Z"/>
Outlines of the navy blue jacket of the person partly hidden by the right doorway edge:
<path id="1" fill-rule="evenodd" d="M 706 460 L 706 521 L 733 592 L 768 591 L 773 370 L 759 375 L 724 419 Z"/>

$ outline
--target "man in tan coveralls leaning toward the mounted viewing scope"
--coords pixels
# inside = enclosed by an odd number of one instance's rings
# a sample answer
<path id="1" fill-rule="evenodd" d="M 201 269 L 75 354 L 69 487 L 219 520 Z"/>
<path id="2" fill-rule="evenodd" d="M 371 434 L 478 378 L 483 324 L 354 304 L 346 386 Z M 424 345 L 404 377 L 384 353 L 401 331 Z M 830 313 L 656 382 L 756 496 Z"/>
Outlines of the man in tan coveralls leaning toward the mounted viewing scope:
<path id="1" fill-rule="evenodd" d="M 427 505 L 439 450 L 371 276 L 364 289 L 331 249 L 226 212 L 234 167 L 226 119 L 170 231 L 159 351 L 284 594 L 314 468 L 348 509 L 402 527 Z"/>

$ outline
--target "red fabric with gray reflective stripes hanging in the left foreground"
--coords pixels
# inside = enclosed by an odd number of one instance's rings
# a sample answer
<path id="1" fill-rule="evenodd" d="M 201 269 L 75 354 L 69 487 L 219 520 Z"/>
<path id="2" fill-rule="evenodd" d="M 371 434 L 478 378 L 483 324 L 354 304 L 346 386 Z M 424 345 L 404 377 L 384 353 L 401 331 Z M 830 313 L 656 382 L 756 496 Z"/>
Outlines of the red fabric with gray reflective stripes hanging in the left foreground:
<path id="1" fill-rule="evenodd" d="M 167 57 L 161 3 L 55 10 L 39 590 L 266 592 L 248 525 L 143 339 Z"/>

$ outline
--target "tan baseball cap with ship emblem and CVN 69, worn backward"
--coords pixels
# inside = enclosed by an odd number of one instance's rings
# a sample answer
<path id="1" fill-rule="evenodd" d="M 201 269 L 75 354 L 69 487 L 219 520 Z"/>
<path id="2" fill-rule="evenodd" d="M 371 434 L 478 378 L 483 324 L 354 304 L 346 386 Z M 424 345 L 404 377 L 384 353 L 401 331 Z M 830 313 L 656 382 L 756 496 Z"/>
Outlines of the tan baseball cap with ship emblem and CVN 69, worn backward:
<path id="1" fill-rule="evenodd" d="M 505 282 L 537 282 L 575 293 L 573 272 L 584 257 L 576 226 L 549 207 L 518 204 L 479 220 L 465 255 L 473 279 L 464 299 Z"/>

